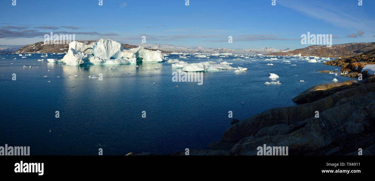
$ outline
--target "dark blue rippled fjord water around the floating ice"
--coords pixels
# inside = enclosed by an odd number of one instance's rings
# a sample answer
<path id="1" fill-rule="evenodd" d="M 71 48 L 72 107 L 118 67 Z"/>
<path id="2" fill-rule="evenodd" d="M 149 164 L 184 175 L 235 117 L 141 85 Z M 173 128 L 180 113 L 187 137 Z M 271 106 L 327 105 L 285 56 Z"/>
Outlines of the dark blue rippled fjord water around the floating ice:
<path id="1" fill-rule="evenodd" d="M 296 64 L 293 66 L 281 63 L 284 59 L 234 61 L 236 57 L 230 56 L 223 61 L 248 71 L 204 72 L 203 85 L 198 85 L 172 82 L 175 69 L 166 62 L 139 67 L 69 66 L 38 62 L 40 55 L 0 54 L 0 146 L 30 146 L 31 155 L 97 155 L 99 148 L 105 155 L 208 149 L 207 145 L 219 140 L 230 126 L 228 111 L 233 111 L 234 119 L 242 120 L 270 108 L 295 105 L 294 96 L 335 77 L 350 80 L 317 73 L 339 68 L 322 63 L 287 58 Z M 178 56 L 169 55 L 168 59 Z M 191 56 L 180 60 L 218 59 Z M 48 58 L 62 57 L 48 54 Z M 157 65 L 162 65 L 161 69 L 152 69 Z M 103 80 L 87 78 L 99 73 Z M 278 74 L 282 84 L 264 85 L 272 81 L 269 73 Z M 60 118 L 55 118 L 55 111 L 60 112 Z"/>

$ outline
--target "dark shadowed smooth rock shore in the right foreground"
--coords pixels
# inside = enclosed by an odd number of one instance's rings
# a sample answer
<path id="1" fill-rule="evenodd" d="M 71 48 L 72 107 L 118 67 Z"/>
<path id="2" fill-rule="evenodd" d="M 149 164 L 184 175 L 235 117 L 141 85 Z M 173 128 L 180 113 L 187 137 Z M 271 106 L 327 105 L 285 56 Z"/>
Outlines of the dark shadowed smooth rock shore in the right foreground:
<path id="1" fill-rule="evenodd" d="M 210 150 L 189 154 L 257 155 L 257 148 L 266 144 L 288 146 L 289 155 L 358 155 L 359 148 L 363 155 L 375 155 L 375 75 L 317 85 L 293 101 L 300 104 L 234 119 L 221 140 L 208 145 Z"/>

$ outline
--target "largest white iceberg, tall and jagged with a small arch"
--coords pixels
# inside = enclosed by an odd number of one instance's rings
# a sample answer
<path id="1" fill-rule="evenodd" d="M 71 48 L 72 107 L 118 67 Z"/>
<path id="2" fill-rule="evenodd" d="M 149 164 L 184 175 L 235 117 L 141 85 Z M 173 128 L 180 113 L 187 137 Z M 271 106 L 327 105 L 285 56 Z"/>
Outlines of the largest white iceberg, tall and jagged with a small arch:
<path id="1" fill-rule="evenodd" d="M 81 64 L 135 64 L 136 62 L 161 62 L 163 54 L 139 46 L 124 49 L 121 43 L 110 39 L 100 39 L 98 42 L 85 44 L 81 42 L 69 43 L 68 53 L 62 61 L 66 65 Z"/>

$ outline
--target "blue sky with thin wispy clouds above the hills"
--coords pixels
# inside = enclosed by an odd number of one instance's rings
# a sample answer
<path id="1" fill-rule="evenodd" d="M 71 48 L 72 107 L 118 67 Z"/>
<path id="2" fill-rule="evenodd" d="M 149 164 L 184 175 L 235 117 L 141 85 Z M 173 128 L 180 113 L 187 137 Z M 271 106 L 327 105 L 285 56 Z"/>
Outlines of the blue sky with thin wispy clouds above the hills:
<path id="1" fill-rule="evenodd" d="M 0 2 L 0 46 L 43 36 L 76 40 L 247 49 L 292 49 L 301 35 L 333 34 L 333 44 L 375 42 L 374 0 L 12 0 Z M 358 33 L 359 32 L 359 33 Z M 363 33 L 361 33 L 363 32 Z M 228 36 L 233 43 L 228 43 Z"/>

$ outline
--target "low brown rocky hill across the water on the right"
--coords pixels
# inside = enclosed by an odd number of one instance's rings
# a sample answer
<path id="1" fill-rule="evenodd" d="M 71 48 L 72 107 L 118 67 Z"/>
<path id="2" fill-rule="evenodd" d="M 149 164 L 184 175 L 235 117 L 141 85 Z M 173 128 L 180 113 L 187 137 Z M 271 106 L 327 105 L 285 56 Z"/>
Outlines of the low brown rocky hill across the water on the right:
<path id="1" fill-rule="evenodd" d="M 372 43 L 344 43 L 332 45 L 312 45 L 302 49 L 291 50 L 288 52 L 276 52 L 268 55 L 291 56 L 301 53 L 302 56 L 319 56 L 319 57 L 333 57 L 333 58 L 348 58 L 351 56 L 360 55 L 370 49 L 374 49 L 375 42 Z"/>

